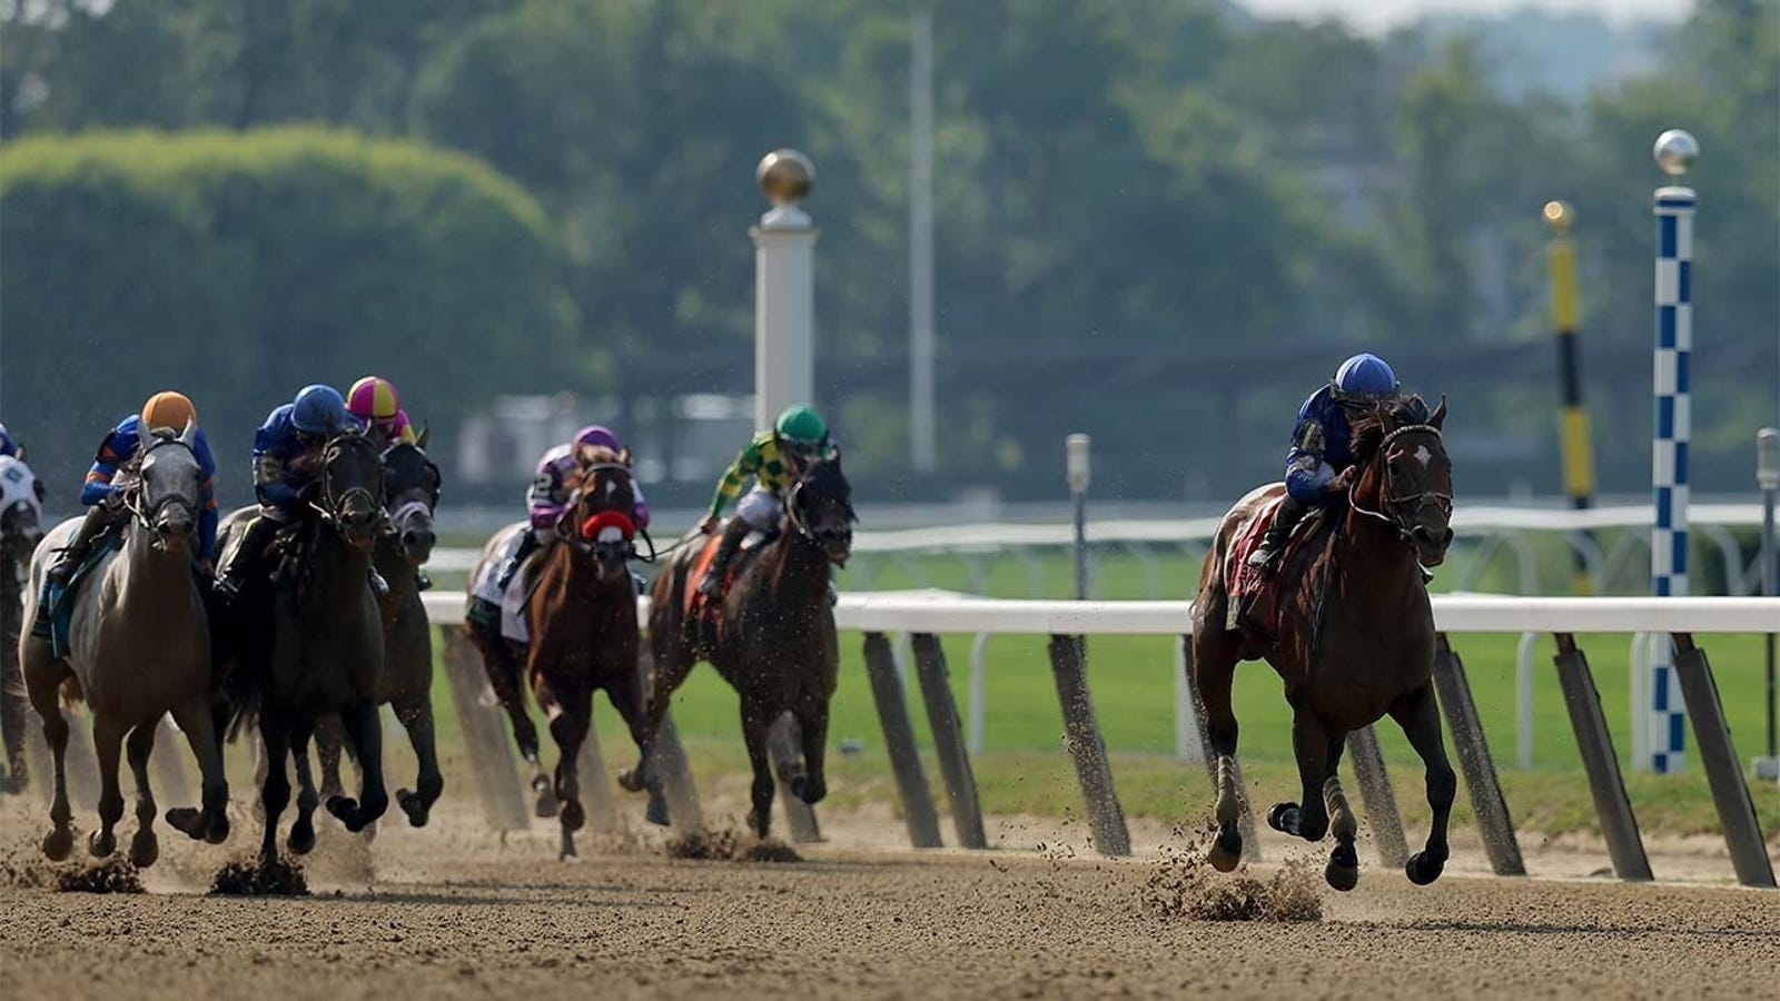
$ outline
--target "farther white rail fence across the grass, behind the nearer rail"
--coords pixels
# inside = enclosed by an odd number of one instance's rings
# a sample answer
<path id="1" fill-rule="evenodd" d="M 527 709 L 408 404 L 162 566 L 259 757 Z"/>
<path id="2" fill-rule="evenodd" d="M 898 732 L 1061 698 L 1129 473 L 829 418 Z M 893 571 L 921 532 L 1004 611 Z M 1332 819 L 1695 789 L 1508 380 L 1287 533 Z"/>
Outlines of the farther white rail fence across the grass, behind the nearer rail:
<path id="1" fill-rule="evenodd" d="M 1732 597 L 1752 595 L 1760 584 L 1760 565 L 1746 559 L 1737 541 L 1739 529 L 1760 527 L 1760 504 L 1696 504 L 1691 509 L 1700 545 L 1712 547 L 1725 568 L 1723 579 L 1703 581 L 1705 590 Z M 1552 508 L 1461 506 L 1452 515 L 1452 531 L 1476 547 L 1456 568 L 1456 590 L 1477 586 L 1501 554 L 1513 565 L 1515 588 L 1524 595 L 1540 593 L 1534 533 L 1558 533 L 1563 545 L 1579 554 L 1597 593 L 1618 584 L 1641 590 L 1646 582 L 1650 554 L 1650 506 L 1613 506 L 1588 511 Z M 1638 529 L 1638 531 L 1623 531 Z M 1143 566 L 1145 593 L 1152 598 L 1175 595 L 1180 582 L 1166 579 L 1157 565 L 1159 552 L 1184 554 L 1196 561 L 1218 531 L 1218 518 L 1109 518 L 1088 524 L 1091 566 L 1112 554 L 1125 554 Z M 1606 549 L 1591 533 L 1622 531 Z M 977 524 L 936 525 L 897 531 L 860 531 L 853 540 L 854 574 L 863 586 L 886 568 L 897 568 L 915 586 L 927 584 L 929 568 L 922 557 L 947 556 L 963 563 L 967 590 L 983 591 L 990 572 L 1002 561 L 1025 568 L 1031 597 L 1048 593 L 1041 552 L 1073 543 L 1066 524 Z M 441 574 L 466 574 L 475 565 L 473 549 L 440 549 L 429 566 Z"/>

